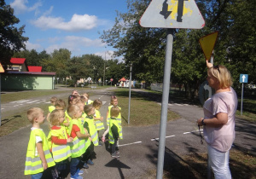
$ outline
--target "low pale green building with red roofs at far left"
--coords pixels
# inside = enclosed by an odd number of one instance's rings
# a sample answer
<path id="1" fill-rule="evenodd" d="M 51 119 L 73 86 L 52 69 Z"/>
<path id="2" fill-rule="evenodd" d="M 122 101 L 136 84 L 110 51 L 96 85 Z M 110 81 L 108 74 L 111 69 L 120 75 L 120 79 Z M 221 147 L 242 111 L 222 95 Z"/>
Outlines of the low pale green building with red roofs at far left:
<path id="1" fill-rule="evenodd" d="M 26 66 L 26 59 L 11 58 L 1 73 L 2 90 L 54 90 L 55 72 L 42 72 L 42 66 Z"/>

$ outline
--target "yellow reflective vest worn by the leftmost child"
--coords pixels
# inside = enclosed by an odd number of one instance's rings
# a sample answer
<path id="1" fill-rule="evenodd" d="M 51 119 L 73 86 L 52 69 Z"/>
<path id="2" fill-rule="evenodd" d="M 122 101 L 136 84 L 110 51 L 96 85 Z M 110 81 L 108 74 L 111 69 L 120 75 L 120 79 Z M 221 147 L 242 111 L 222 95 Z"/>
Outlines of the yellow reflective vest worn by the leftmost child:
<path id="1" fill-rule="evenodd" d="M 26 150 L 26 163 L 25 163 L 25 175 L 34 175 L 44 171 L 42 160 L 39 154 L 36 154 L 36 136 L 40 136 L 42 139 L 44 156 L 47 161 L 48 167 L 54 166 L 55 162 L 52 159 L 51 153 L 49 152 L 49 147 L 47 143 L 44 131 L 40 129 L 35 129 L 31 131 L 30 138 Z"/>

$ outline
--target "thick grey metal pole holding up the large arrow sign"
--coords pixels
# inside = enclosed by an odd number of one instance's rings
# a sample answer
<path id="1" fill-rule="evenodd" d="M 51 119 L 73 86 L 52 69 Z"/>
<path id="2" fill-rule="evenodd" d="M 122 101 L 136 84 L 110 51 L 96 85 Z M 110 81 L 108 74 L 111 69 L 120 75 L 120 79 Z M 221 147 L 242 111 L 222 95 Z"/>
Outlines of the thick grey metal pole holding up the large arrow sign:
<path id="1" fill-rule="evenodd" d="M 162 95 L 162 105 L 161 105 L 160 137 L 159 137 L 158 160 L 157 160 L 157 171 L 156 171 L 157 179 L 163 178 L 165 146 L 166 146 L 166 121 L 167 121 L 167 112 L 168 112 L 171 66 L 172 66 L 173 29 L 167 29 L 166 36 L 167 36 L 166 37 L 166 61 L 165 61 L 163 95 Z"/>

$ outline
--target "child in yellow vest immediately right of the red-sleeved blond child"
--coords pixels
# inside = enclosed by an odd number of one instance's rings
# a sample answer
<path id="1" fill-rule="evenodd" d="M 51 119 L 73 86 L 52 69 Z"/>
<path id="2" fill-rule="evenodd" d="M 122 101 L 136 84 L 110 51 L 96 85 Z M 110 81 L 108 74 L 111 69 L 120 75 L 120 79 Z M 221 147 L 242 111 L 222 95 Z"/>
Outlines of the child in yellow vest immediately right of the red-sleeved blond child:
<path id="1" fill-rule="evenodd" d="M 84 128 L 89 132 L 90 138 L 91 138 L 91 143 L 93 144 L 92 147 L 90 148 L 92 152 L 94 152 L 94 146 L 99 145 L 99 140 L 98 140 L 98 133 L 96 130 L 96 125 L 94 122 L 94 114 L 95 114 L 95 108 L 92 105 L 85 105 L 84 106 L 84 113 L 86 113 L 86 118 L 84 120 Z M 92 156 L 90 156 L 90 159 L 88 159 L 87 164 L 89 165 L 94 165 L 92 162 Z"/>

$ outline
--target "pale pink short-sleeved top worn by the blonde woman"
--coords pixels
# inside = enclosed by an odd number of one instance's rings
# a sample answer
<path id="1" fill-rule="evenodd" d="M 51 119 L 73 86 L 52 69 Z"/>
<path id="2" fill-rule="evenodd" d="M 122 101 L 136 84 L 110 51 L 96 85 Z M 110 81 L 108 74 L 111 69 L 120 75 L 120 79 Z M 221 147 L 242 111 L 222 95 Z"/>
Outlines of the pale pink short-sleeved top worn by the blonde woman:
<path id="1" fill-rule="evenodd" d="M 223 126 L 204 126 L 204 138 L 207 141 L 207 144 L 220 152 L 230 150 L 230 147 L 235 140 L 236 107 L 236 91 L 231 87 L 230 91 L 212 95 L 212 98 L 209 98 L 204 104 L 204 118 L 214 118 L 218 113 L 228 114 L 228 122 Z"/>

